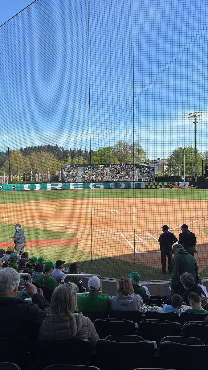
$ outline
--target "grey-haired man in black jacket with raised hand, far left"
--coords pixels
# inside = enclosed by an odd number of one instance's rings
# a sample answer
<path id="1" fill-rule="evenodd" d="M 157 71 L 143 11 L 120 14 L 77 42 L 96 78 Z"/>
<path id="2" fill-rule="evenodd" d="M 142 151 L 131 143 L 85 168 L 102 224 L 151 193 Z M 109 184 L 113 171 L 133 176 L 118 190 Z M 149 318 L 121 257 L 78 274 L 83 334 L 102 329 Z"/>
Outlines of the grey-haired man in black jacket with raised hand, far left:
<path id="1" fill-rule="evenodd" d="M 0 316 L 4 318 L 1 321 L 1 336 L 37 337 L 49 303 L 31 283 L 27 283 L 25 290 L 33 302 L 18 298 L 19 282 L 20 275 L 16 270 L 0 270 Z M 16 317 L 15 326 L 13 317 Z"/>

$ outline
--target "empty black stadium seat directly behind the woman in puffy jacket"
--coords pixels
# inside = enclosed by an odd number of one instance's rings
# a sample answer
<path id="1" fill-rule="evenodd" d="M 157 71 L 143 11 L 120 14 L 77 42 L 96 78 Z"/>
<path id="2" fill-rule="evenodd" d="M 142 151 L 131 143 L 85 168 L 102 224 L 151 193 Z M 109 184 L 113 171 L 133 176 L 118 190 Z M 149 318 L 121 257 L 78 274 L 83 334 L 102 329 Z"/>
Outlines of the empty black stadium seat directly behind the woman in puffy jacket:
<path id="1" fill-rule="evenodd" d="M 91 352 L 88 339 L 50 340 L 39 338 L 34 343 L 38 360 L 47 367 L 54 364 L 87 365 Z"/>

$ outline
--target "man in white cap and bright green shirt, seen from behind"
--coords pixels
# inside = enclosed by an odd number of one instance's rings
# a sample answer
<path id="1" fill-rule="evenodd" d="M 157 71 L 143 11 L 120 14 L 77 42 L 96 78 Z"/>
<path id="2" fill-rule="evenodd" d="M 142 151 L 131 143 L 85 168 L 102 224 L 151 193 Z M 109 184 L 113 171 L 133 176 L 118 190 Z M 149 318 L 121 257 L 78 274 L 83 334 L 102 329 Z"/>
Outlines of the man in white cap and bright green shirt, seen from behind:
<path id="1" fill-rule="evenodd" d="M 99 294 L 99 277 L 90 277 L 88 280 L 88 290 L 89 294 L 87 296 L 80 294 L 77 297 L 77 309 L 89 312 L 108 311 L 111 297 L 108 294 Z"/>

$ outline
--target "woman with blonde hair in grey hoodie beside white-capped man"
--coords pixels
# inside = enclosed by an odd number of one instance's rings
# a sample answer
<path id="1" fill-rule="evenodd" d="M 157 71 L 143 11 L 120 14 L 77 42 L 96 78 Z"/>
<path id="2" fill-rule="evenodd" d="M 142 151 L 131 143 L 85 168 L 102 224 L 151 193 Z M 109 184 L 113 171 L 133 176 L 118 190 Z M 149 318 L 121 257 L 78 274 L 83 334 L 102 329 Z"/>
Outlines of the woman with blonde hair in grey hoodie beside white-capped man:
<path id="1" fill-rule="evenodd" d="M 138 311 L 143 306 L 142 297 L 134 294 L 129 277 L 121 277 L 117 283 L 117 293 L 111 297 L 109 311 Z"/>

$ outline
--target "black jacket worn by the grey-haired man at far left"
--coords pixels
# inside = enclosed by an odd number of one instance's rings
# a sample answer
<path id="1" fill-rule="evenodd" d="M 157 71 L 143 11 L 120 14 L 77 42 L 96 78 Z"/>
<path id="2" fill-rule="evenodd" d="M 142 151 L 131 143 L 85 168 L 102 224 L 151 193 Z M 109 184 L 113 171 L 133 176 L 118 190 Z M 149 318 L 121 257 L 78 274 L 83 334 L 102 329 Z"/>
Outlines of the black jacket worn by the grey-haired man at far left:
<path id="1" fill-rule="evenodd" d="M 1 337 L 38 336 L 41 322 L 48 313 L 49 303 L 39 293 L 33 303 L 18 297 L 0 297 Z"/>

